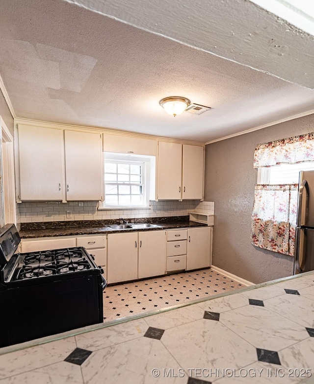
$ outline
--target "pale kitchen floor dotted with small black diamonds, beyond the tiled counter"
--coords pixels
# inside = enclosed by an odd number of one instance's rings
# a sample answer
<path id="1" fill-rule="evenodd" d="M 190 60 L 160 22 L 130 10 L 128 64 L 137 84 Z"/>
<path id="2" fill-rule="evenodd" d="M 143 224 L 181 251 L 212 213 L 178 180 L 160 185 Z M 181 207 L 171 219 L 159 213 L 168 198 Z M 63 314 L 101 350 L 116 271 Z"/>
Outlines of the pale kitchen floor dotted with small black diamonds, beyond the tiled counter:
<path id="1" fill-rule="evenodd" d="M 241 287 L 242 284 L 211 268 L 113 285 L 104 292 L 104 320 L 141 314 Z"/>

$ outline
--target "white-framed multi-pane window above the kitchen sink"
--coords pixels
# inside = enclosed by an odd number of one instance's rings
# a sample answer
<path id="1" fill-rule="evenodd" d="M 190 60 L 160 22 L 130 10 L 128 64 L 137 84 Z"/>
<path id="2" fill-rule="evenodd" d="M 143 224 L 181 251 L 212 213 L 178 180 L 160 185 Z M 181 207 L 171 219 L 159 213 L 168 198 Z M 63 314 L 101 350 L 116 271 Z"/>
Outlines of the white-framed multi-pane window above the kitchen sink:
<path id="1" fill-rule="evenodd" d="M 105 152 L 105 201 L 100 209 L 149 207 L 155 192 L 155 156 Z"/>

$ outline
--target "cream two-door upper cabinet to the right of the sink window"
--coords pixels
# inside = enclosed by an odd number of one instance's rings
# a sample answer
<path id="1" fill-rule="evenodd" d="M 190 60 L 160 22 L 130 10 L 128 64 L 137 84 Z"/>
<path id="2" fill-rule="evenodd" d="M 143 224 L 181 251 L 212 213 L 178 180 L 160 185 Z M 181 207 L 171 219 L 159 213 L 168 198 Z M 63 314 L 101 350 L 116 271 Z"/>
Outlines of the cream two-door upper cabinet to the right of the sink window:
<path id="1" fill-rule="evenodd" d="M 204 147 L 158 142 L 158 200 L 202 200 Z"/>

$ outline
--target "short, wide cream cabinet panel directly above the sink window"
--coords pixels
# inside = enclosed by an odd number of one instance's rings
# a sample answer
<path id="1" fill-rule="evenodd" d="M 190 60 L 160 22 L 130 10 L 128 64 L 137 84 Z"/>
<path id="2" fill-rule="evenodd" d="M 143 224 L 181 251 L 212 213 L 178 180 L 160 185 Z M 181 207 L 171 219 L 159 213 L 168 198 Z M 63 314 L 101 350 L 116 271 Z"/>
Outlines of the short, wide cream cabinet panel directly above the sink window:
<path id="1" fill-rule="evenodd" d="M 104 133 L 104 151 L 116 153 L 133 153 L 136 155 L 156 156 L 157 142 L 127 135 Z"/>

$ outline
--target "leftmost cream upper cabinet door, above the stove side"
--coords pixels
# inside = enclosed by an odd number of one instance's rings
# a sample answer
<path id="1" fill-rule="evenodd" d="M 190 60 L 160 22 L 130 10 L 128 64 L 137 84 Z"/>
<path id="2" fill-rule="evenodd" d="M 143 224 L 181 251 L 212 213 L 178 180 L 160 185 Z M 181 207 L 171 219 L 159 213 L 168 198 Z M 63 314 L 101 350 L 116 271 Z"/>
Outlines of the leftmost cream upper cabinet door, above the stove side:
<path id="1" fill-rule="evenodd" d="M 20 200 L 63 200 L 63 131 L 18 125 Z"/>

